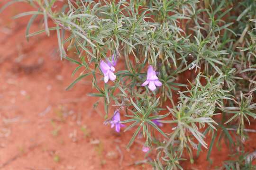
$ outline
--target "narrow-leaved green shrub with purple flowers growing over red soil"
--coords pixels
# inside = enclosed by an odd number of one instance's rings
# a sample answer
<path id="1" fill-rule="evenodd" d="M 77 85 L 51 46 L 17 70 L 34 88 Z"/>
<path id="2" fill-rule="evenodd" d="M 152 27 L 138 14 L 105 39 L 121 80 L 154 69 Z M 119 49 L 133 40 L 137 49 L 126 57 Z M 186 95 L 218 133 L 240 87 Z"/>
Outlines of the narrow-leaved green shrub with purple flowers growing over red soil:
<path id="1" fill-rule="evenodd" d="M 26 37 L 56 32 L 60 59 L 77 64 L 73 75 L 83 68 L 67 90 L 91 78 L 106 126 L 133 131 L 127 147 L 142 136 L 153 169 L 183 169 L 202 152 L 211 163 L 214 145 L 235 155 L 220 168 L 256 169 L 244 145 L 256 118 L 256 0 L 14 0 L 1 10 L 19 1 L 35 8 L 15 16 L 31 16 Z M 40 16 L 44 29 L 30 33 Z"/>

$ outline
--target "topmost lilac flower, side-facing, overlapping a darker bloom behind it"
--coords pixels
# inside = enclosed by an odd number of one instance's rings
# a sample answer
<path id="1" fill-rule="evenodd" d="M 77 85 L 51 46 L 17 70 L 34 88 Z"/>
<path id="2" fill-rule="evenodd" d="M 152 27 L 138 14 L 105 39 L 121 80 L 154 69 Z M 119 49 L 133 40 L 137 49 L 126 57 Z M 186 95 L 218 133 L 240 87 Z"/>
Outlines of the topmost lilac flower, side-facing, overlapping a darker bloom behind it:
<path id="1" fill-rule="evenodd" d="M 113 73 L 115 71 L 114 66 L 117 62 L 114 60 L 114 55 L 112 55 L 112 61 L 108 60 L 108 63 L 101 60 L 100 68 L 102 73 L 104 74 L 104 82 L 108 83 L 109 79 L 114 81 L 116 79 L 116 75 Z"/>

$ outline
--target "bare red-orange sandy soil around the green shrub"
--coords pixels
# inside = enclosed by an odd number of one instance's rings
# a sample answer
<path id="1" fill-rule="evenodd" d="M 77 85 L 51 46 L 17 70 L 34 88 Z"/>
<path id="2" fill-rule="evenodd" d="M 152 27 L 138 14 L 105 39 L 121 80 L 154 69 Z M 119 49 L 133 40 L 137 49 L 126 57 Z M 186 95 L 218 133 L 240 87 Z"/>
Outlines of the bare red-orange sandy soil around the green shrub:
<path id="1" fill-rule="evenodd" d="M 1 2 L 0 7 L 7 1 Z M 86 95 L 92 92 L 90 78 L 65 91 L 75 65 L 60 60 L 56 34 L 26 41 L 29 17 L 11 17 L 29 9 L 19 3 L 0 14 L 0 169 L 151 169 L 140 163 L 146 160 L 143 141 L 137 139 L 128 150 L 132 132 L 117 134 L 103 125 L 103 102 L 94 109 L 98 99 Z M 42 29 L 39 25 L 31 32 Z M 254 137 L 247 141 L 248 151 L 256 149 Z M 225 148 L 214 148 L 210 165 L 206 154 L 192 165 L 185 161 L 185 170 L 213 170 L 228 158 Z"/>

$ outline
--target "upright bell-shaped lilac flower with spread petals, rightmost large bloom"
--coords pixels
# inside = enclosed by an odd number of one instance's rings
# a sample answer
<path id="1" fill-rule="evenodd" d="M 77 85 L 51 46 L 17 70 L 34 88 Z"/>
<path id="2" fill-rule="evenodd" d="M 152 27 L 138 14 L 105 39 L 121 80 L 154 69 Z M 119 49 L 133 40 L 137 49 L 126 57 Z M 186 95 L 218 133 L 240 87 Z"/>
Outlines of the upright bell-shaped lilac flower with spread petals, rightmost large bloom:
<path id="1" fill-rule="evenodd" d="M 160 87 L 162 83 L 158 80 L 158 77 L 155 74 L 155 71 L 152 66 L 149 66 L 147 69 L 146 81 L 142 84 L 142 86 L 148 85 L 148 88 L 151 91 L 156 89 L 156 86 Z"/>

